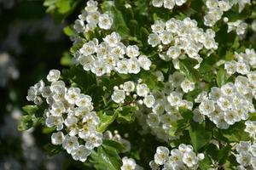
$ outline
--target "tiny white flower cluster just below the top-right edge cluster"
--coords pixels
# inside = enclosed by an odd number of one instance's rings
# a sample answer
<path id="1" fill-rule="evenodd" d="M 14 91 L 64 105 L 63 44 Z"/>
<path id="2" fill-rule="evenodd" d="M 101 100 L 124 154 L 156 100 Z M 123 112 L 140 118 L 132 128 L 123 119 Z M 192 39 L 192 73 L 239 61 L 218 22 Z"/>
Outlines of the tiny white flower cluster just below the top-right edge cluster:
<path id="1" fill-rule="evenodd" d="M 236 31 L 238 36 L 242 36 L 245 34 L 247 30 L 247 23 L 242 20 L 236 20 L 236 22 L 228 22 L 228 32 Z"/>

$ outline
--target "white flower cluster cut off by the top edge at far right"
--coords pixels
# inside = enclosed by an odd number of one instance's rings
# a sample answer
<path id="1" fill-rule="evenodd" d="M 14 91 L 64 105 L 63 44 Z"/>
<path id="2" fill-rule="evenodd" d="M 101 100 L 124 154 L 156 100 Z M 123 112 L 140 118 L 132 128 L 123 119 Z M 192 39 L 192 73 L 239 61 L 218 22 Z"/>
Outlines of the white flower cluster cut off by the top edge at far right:
<path id="1" fill-rule="evenodd" d="M 207 0 L 207 14 L 204 17 L 204 24 L 206 26 L 214 26 L 218 20 L 221 20 L 224 12 L 230 10 L 232 6 L 239 5 L 239 13 L 245 7 L 246 4 L 250 4 L 250 0 Z"/>

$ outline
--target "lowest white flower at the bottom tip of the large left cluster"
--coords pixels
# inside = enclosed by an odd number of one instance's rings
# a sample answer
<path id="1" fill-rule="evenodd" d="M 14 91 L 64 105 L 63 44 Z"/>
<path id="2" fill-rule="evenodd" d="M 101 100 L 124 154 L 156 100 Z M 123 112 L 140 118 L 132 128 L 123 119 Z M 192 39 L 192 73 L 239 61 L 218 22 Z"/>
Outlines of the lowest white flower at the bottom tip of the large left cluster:
<path id="1" fill-rule="evenodd" d="M 74 160 L 84 162 L 87 160 L 87 156 L 90 155 L 90 150 L 88 150 L 84 145 L 79 145 L 79 147 L 74 149 L 71 154 Z"/>

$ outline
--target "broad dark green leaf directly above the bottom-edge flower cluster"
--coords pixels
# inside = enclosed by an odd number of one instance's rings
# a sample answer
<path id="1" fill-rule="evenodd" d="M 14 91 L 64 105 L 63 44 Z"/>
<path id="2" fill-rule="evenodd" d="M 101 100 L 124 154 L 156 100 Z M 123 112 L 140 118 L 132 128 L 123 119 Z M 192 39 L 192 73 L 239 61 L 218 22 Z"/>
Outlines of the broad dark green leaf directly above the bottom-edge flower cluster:
<path id="1" fill-rule="evenodd" d="M 189 136 L 191 143 L 193 144 L 195 151 L 198 151 L 212 139 L 212 133 L 206 132 L 205 123 L 199 124 L 191 121 L 190 125 Z"/>

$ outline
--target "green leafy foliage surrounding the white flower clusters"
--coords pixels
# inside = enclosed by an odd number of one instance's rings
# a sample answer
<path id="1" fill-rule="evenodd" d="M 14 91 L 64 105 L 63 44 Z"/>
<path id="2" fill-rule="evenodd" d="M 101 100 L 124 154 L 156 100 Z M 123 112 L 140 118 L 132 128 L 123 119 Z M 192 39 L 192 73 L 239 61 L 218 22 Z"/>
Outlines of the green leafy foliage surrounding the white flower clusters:
<path id="1" fill-rule="evenodd" d="M 45 0 L 44 6 L 47 8 L 46 12 L 53 14 L 57 20 L 65 20 L 67 23 L 72 20 L 73 15 L 79 14 L 80 10 L 84 8 L 87 1 L 81 0 Z M 195 19 L 199 27 L 204 31 L 208 29 L 204 26 L 203 16 L 206 14 L 206 1 L 204 0 L 189 0 L 183 6 L 175 7 L 172 10 L 166 8 L 155 8 L 151 5 L 151 0 L 114 0 L 98 1 L 99 8 L 103 13 L 108 13 L 113 17 L 113 27 L 109 31 L 102 31 L 96 28 L 94 31 L 84 33 L 77 33 L 74 31 L 72 25 L 65 26 L 63 31 L 67 37 L 83 36 L 78 42 L 73 43 L 70 53 L 65 50 L 61 57 L 61 65 L 65 67 L 61 73 L 61 79 L 70 87 L 78 87 L 81 92 L 92 97 L 94 103 L 94 110 L 100 119 L 100 124 L 97 130 L 104 133 L 107 130 L 118 130 L 122 133 L 129 132 L 129 139 L 131 139 L 131 152 L 123 153 L 124 145 L 113 140 L 103 140 L 103 144 L 92 150 L 89 157 L 90 165 L 97 170 L 119 170 L 122 166 L 120 156 L 131 156 L 138 162 L 143 162 L 143 167 L 148 169 L 148 162 L 154 159 L 153 146 L 170 144 L 177 147 L 179 144 L 192 144 L 197 154 L 204 153 L 205 159 L 199 162 L 199 169 L 232 169 L 236 167 L 236 158 L 231 153 L 232 143 L 240 141 L 252 140 L 248 133 L 244 132 L 244 121 L 236 122 L 228 129 L 219 129 L 206 116 L 206 119 L 199 123 L 193 120 L 194 113 L 185 108 L 178 108 L 177 121 L 166 125 L 169 130 L 170 137 L 179 137 L 172 141 L 162 142 L 154 139 L 151 134 L 144 134 L 148 129 L 143 129 L 138 125 L 136 120 L 137 100 L 130 97 L 125 99 L 125 103 L 114 104 L 111 99 L 113 94 L 113 87 L 126 81 L 137 82 L 141 79 L 142 83 L 147 84 L 150 92 L 164 91 L 164 82 L 157 81 L 154 75 L 155 71 L 162 71 L 165 82 L 168 77 L 177 69 L 171 61 L 164 61 L 159 57 L 158 48 L 152 48 L 148 45 L 148 35 L 152 33 L 151 25 L 154 20 L 169 20 L 175 18 L 183 20 L 187 17 Z M 128 5 L 128 7 L 127 7 Z M 129 7 L 131 5 L 131 8 Z M 256 18 L 255 5 L 246 6 L 246 8 L 239 14 L 238 6 L 234 6 L 230 11 L 224 13 L 224 17 L 229 18 L 230 21 L 246 20 L 251 23 Z M 235 31 L 228 33 L 228 26 L 219 20 L 216 26 L 212 28 L 218 42 L 218 49 L 208 51 L 201 50 L 200 57 L 203 59 L 201 66 L 195 69 L 198 61 L 189 57 L 184 57 L 178 60 L 179 71 L 189 79 L 195 82 L 195 89 L 183 95 L 186 99 L 193 103 L 193 110 L 198 108 L 198 103 L 195 103 L 195 98 L 202 91 L 209 92 L 212 87 L 218 86 L 221 88 L 227 82 L 234 82 L 233 78 L 224 70 L 222 61 L 230 61 L 235 59 L 235 52 L 244 52 L 245 48 L 254 46 L 255 43 L 250 42 L 249 36 L 245 35 L 245 39 L 241 40 Z M 135 74 L 119 74 L 111 72 L 108 76 L 96 77 L 90 71 L 84 71 L 81 65 L 73 63 L 73 55 L 81 48 L 84 42 L 92 40 L 94 37 L 102 40 L 103 37 L 116 31 L 122 38 L 125 45 L 134 45 L 140 48 L 141 54 L 145 54 L 152 61 L 150 71 L 140 71 Z M 252 44 L 250 44 L 252 43 Z M 162 48 L 168 48 L 163 45 Z M 177 89 L 177 91 L 182 89 Z M 132 95 L 133 93 L 131 93 Z M 142 97 L 137 96 L 138 99 Z M 165 101 L 166 102 L 166 101 Z M 164 101 L 163 101 L 164 103 Z M 167 102 L 166 102 L 167 103 Z M 255 103 L 255 101 L 254 101 Z M 135 106 L 136 105 L 136 106 Z M 43 110 L 44 106 L 26 105 L 23 111 L 26 115 L 20 118 L 19 130 L 23 131 L 30 127 L 37 126 L 44 122 Z M 145 109 L 145 114 L 152 112 Z M 254 120 L 255 117 L 250 116 L 249 120 Z M 256 119 L 255 119 L 256 120 Z M 146 122 L 143 122 L 146 123 Z M 170 128 L 169 128 L 170 127 Z M 52 133 L 54 128 L 44 127 L 43 133 Z M 145 132 L 144 132 L 145 131 Z M 157 134 L 156 134 L 157 135 Z M 140 140 L 141 139 L 141 140 Z M 81 141 L 79 141 L 81 142 Z M 151 142 L 153 146 L 151 145 Z M 50 156 L 59 153 L 62 149 L 60 146 L 53 144 L 46 144 L 44 149 Z M 233 160 L 233 161 L 232 161 Z M 140 163 L 138 163 L 140 164 Z M 148 167 L 148 168 L 147 168 Z"/>

